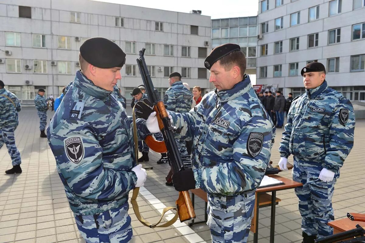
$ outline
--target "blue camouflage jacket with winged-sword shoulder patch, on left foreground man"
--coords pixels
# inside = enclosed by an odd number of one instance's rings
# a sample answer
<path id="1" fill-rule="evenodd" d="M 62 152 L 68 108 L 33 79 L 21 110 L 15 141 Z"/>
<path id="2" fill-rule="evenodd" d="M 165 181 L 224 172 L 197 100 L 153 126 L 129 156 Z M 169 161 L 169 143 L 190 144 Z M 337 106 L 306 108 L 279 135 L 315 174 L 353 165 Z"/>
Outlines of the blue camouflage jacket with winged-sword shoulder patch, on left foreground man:
<path id="1" fill-rule="evenodd" d="M 141 138 L 149 135 L 138 119 Z M 115 95 L 77 71 L 47 128 L 47 138 L 65 186 L 70 208 L 78 215 L 101 213 L 127 202 L 137 177 L 132 117 Z"/>

